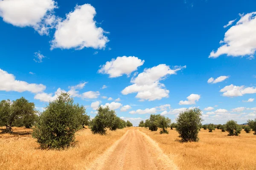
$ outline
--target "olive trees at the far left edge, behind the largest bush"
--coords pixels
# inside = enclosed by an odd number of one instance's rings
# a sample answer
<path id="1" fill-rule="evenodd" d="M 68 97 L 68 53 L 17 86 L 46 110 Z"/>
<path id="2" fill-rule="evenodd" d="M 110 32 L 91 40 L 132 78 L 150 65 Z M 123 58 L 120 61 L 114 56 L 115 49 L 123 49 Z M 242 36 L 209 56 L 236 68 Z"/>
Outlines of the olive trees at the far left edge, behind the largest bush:
<path id="1" fill-rule="evenodd" d="M 0 126 L 6 126 L 7 131 L 12 131 L 12 126 L 32 127 L 38 120 L 38 111 L 35 104 L 24 97 L 15 101 L 2 100 L 0 102 Z"/>

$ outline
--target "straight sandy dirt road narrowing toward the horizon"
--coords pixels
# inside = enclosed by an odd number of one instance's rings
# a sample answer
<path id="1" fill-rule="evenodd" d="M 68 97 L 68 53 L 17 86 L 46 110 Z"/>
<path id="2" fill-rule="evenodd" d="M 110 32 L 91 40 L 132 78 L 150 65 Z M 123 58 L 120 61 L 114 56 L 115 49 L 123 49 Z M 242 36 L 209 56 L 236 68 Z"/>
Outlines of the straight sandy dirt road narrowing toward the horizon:
<path id="1" fill-rule="evenodd" d="M 128 130 L 89 170 L 177 170 L 149 136 L 136 129 Z"/>

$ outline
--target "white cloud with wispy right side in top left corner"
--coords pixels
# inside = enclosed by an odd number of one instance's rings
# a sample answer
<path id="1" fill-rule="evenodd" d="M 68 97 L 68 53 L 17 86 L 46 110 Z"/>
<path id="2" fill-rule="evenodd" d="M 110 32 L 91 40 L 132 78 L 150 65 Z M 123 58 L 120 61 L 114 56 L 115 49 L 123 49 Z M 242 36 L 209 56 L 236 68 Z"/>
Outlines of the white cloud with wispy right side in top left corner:
<path id="1" fill-rule="evenodd" d="M 55 25 L 54 0 L 0 0 L 0 17 L 19 27 L 32 27 L 39 34 L 49 34 Z"/>

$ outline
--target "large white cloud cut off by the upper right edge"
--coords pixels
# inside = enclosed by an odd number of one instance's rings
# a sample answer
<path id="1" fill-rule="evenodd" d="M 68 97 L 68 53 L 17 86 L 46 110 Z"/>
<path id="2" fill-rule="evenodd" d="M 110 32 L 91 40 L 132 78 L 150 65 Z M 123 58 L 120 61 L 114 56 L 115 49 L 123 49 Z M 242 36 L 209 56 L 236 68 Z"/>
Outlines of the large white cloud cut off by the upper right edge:
<path id="1" fill-rule="evenodd" d="M 241 18 L 225 33 L 221 47 L 212 51 L 209 58 L 217 58 L 222 54 L 227 56 L 250 56 L 256 50 L 256 12 L 240 14 Z M 233 21 L 234 22 L 234 21 Z M 231 24 L 230 24 L 231 25 Z"/>

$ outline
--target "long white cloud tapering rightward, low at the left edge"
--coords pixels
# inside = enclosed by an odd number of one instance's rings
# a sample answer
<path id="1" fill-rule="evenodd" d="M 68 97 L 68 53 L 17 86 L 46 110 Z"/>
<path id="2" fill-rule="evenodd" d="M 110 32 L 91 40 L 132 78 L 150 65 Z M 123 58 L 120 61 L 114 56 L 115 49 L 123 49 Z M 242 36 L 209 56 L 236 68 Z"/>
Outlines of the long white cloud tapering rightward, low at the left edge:
<path id="1" fill-rule="evenodd" d="M 45 89 L 45 85 L 16 80 L 13 74 L 9 74 L 0 69 L 0 91 L 29 91 L 32 93 L 40 93 Z"/>

